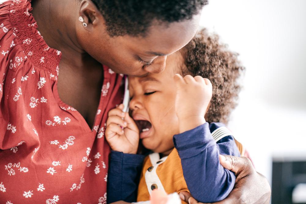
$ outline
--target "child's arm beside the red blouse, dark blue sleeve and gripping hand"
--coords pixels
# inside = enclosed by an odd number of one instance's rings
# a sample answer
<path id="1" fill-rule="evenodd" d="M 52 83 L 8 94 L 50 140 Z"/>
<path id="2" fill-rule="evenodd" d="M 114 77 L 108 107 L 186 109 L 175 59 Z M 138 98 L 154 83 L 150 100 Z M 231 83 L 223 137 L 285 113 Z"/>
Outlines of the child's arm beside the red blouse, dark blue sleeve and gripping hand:
<path id="1" fill-rule="evenodd" d="M 124 200 L 134 202 L 144 160 L 137 155 L 139 130 L 121 104 L 112 109 L 106 122 L 105 138 L 115 150 L 110 154 L 107 176 L 107 203 Z M 122 128 L 123 129 L 122 129 Z"/>

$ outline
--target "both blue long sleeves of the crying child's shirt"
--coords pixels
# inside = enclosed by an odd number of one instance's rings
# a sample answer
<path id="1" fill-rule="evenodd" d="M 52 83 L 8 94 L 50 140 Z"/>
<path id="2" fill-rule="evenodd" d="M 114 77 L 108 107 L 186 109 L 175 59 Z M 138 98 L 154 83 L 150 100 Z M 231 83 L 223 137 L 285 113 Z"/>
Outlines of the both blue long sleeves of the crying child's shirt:
<path id="1" fill-rule="evenodd" d="M 222 135 L 221 123 L 205 123 L 174 135 L 174 146 L 181 158 L 183 175 L 191 195 L 199 202 L 223 200 L 233 189 L 235 174 L 219 163 L 219 154 L 240 156 L 233 136 Z M 219 128 L 219 134 L 211 132 Z M 226 133 L 224 133 L 226 134 Z M 224 135 L 223 135 L 224 136 Z M 135 202 L 144 160 L 143 155 L 112 151 L 107 184 L 107 202 Z"/>

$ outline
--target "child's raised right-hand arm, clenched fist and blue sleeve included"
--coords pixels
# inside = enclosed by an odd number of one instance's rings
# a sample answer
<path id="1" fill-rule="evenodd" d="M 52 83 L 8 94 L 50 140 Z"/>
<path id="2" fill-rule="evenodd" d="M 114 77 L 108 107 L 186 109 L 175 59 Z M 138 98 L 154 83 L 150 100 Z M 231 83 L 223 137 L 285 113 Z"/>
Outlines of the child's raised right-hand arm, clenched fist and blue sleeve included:
<path id="1" fill-rule="evenodd" d="M 183 174 L 191 195 L 200 202 L 216 202 L 226 198 L 233 189 L 235 174 L 219 162 L 222 154 L 233 154 L 232 137 L 218 145 L 213 140 L 205 113 L 212 97 L 212 84 L 201 76 L 184 78 L 176 74 L 175 110 L 181 134 L 174 136 L 174 145 L 181 157 Z M 237 156 L 237 155 L 236 155 Z"/>

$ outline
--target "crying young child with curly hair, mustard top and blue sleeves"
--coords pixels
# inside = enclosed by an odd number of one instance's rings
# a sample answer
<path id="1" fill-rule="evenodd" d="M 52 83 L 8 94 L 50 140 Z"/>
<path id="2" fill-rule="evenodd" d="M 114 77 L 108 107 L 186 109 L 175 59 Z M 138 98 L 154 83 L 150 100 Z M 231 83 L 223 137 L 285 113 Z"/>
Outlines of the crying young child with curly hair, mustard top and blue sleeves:
<path id="1" fill-rule="evenodd" d="M 106 123 L 114 150 L 108 202 L 147 201 L 157 188 L 167 194 L 188 191 L 199 202 L 226 198 L 236 178 L 220 165 L 219 154 L 243 154 L 224 127 L 236 106 L 242 71 L 237 54 L 203 29 L 168 56 L 162 73 L 129 77 L 131 116 L 121 104 Z M 136 154 L 139 139 L 152 151 L 145 158 Z"/>

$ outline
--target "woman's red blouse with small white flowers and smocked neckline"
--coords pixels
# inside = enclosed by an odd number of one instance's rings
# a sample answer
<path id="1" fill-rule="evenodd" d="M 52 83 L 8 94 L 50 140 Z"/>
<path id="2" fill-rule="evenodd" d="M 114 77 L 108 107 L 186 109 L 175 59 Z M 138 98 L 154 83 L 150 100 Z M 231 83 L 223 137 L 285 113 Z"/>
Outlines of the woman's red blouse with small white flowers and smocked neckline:
<path id="1" fill-rule="evenodd" d="M 61 52 L 36 30 L 30 2 L 0 3 L 0 203 L 106 203 L 104 131 L 122 75 L 104 66 L 91 129 L 59 98 Z"/>

